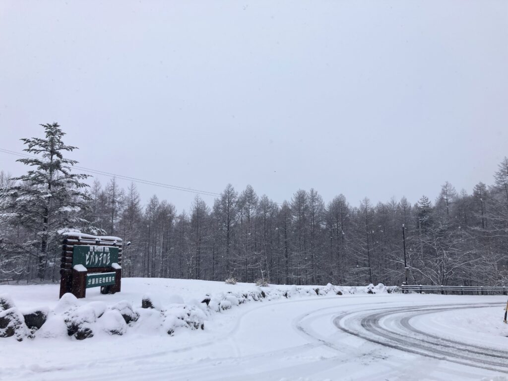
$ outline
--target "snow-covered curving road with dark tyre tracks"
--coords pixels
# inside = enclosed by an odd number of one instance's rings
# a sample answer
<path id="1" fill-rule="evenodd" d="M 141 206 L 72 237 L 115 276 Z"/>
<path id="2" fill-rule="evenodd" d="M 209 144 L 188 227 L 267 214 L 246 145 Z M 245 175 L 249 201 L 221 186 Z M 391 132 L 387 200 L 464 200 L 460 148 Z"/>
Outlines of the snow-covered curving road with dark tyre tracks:
<path id="1" fill-rule="evenodd" d="M 503 299 L 385 294 L 250 303 L 205 331 L 174 337 L 13 342 L 0 351 L 0 379 L 504 379 L 508 338 L 489 335 L 485 321 L 501 318 Z"/>

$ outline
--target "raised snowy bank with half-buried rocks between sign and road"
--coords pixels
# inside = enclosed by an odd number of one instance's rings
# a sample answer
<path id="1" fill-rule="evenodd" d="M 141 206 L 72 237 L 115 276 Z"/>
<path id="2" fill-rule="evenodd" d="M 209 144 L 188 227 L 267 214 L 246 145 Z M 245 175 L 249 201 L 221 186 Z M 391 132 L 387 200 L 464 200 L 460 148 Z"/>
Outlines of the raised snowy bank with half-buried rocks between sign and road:
<path id="1" fill-rule="evenodd" d="M 182 329 L 204 330 L 206 321 L 212 319 L 213 315 L 225 313 L 244 303 L 399 292 L 397 287 L 385 287 L 383 284 L 369 284 L 366 287 L 345 287 L 331 283 L 326 286 L 299 287 L 272 284 L 259 287 L 251 283 L 187 280 L 187 287 L 177 293 L 170 284 L 183 280 L 126 278 L 122 283 L 129 281 L 144 282 L 150 292 L 136 289 L 136 293 L 102 296 L 100 300 L 91 301 L 89 298 L 77 299 L 72 294 L 65 294 L 52 308 L 30 307 L 22 310 L 23 313 L 15 308 L 9 295 L 0 295 L 0 337 L 14 336 L 18 340 L 67 337 L 69 340 L 82 340 L 126 334 L 173 336 Z M 40 285 L 27 287 L 29 292 L 42 288 Z M 115 300 L 122 295 L 135 297 L 137 301 Z M 23 295 L 23 299 L 27 297 Z"/>

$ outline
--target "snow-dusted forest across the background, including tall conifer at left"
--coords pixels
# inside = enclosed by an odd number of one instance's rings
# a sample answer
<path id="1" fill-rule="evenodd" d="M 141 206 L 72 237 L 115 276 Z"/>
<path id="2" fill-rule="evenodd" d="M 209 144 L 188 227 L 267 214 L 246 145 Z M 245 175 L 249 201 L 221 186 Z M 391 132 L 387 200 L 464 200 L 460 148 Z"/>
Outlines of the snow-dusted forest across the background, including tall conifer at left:
<path id="1" fill-rule="evenodd" d="M 315 189 L 278 204 L 252 186 L 228 184 L 208 205 L 196 195 L 188 211 L 135 183 L 104 186 L 74 173 L 57 123 L 44 138 L 22 139 L 25 175 L 0 174 L 0 281 L 59 279 L 61 233 L 77 229 L 131 241 L 123 276 L 292 284 L 378 283 L 506 285 L 508 158 L 489 186 L 468 194 L 449 182 L 433 202 L 422 196 L 352 206 L 343 195 L 325 203 Z M 403 242 L 403 236 L 405 242 Z M 405 243 L 405 254 L 404 254 Z M 405 265 L 404 265 L 405 263 Z M 407 271 L 405 271 L 405 267 Z"/>

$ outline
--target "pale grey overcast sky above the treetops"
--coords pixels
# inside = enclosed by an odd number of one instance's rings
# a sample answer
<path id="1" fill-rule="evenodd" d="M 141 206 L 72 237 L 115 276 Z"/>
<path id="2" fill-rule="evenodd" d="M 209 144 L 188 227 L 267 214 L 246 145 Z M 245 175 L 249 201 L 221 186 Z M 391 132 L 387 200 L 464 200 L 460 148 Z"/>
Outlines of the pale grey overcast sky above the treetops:
<path id="1" fill-rule="evenodd" d="M 505 0 L 2 0 L 0 148 L 57 121 L 80 166 L 110 173 L 434 200 L 508 155 L 507 68 Z M 138 188 L 179 210 L 195 196 Z"/>

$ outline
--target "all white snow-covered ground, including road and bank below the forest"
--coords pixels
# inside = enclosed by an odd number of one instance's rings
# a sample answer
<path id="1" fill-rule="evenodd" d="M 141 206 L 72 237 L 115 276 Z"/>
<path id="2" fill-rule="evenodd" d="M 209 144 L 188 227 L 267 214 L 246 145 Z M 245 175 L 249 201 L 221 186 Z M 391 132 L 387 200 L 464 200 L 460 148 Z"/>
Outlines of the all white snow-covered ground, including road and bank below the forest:
<path id="1" fill-rule="evenodd" d="M 21 312 L 53 321 L 0 338 L 0 380 L 508 380 L 506 296 L 314 289 L 124 278 L 121 293 L 59 301 L 58 285 L 1 285 Z M 158 309 L 140 308 L 146 295 Z M 125 305 L 140 315 L 126 327 L 112 308 Z M 191 309 L 203 330 L 181 323 Z M 67 335 L 72 314 L 93 337 Z M 107 333 L 118 324 L 123 335 Z"/>

